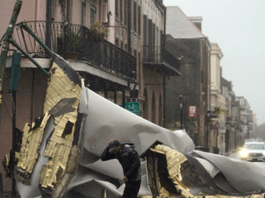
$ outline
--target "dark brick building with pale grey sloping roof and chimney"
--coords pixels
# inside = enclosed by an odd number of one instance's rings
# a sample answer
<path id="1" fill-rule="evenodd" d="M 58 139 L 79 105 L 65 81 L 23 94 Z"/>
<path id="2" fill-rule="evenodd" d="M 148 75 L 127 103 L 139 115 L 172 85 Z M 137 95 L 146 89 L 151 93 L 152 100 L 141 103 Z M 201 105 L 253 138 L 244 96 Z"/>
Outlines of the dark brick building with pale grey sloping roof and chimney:
<path id="1" fill-rule="evenodd" d="M 196 22 L 195 22 L 196 19 Z M 210 109 L 210 42 L 201 30 L 201 17 L 189 19 L 179 7 L 167 7 L 166 48 L 181 59 L 181 76 L 166 79 L 166 127 L 181 128 L 180 95 L 184 101 L 183 129 L 196 146 L 207 147 L 206 112 Z M 195 106 L 196 116 L 189 116 Z"/>

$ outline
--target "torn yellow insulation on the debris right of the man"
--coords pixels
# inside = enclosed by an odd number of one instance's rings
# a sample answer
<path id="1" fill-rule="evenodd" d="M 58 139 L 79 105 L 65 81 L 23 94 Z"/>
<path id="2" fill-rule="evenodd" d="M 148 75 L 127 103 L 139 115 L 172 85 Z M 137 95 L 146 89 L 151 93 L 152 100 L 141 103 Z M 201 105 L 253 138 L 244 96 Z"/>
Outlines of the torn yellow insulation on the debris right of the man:
<path id="1" fill-rule="evenodd" d="M 151 149 L 151 148 L 150 148 Z M 203 195 L 201 196 L 194 196 L 193 194 L 190 193 L 190 189 L 185 186 L 181 181 L 181 163 L 185 162 L 188 160 L 182 153 L 175 149 L 171 149 L 168 146 L 164 145 L 157 145 L 155 146 L 155 149 L 151 149 L 154 152 L 158 153 L 165 153 L 166 155 L 166 161 L 167 161 L 167 170 L 169 172 L 169 176 L 171 179 L 174 181 L 174 185 L 177 189 L 177 191 L 181 192 L 180 197 L 183 198 L 202 198 Z M 181 191 L 180 191 L 181 190 Z M 152 196 L 142 196 L 142 198 L 151 198 Z M 169 193 L 166 191 L 166 189 L 160 190 L 160 198 L 175 198 L 178 196 L 170 196 Z M 249 198 L 263 198 L 264 193 L 261 195 L 252 195 L 248 196 Z M 205 196 L 205 198 L 245 198 L 245 197 L 233 197 L 233 196 L 222 196 L 222 195 L 215 195 L 215 196 Z"/>

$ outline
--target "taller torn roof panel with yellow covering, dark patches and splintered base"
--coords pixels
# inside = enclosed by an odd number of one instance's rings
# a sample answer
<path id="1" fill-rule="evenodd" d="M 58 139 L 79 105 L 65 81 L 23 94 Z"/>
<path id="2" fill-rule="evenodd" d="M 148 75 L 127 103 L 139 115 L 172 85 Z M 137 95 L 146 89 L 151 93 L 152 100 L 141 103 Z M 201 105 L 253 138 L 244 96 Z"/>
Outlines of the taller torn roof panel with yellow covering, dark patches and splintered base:
<path id="1" fill-rule="evenodd" d="M 40 189 L 43 197 L 62 197 L 75 175 L 80 151 L 73 141 L 80 96 L 79 84 L 72 82 L 64 70 L 53 63 L 43 111 L 54 116 L 56 126 L 43 153 L 49 157 L 41 170 Z"/>

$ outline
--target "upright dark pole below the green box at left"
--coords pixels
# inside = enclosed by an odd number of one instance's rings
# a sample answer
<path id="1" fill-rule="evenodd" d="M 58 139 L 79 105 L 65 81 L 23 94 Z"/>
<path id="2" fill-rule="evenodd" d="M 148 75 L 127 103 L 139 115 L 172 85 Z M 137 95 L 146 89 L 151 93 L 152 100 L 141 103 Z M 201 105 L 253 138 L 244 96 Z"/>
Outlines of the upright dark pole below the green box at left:
<path id="1" fill-rule="evenodd" d="M 11 195 L 12 198 L 16 197 L 16 180 L 14 178 L 14 168 L 15 168 L 15 150 L 16 150 L 16 91 L 12 91 L 12 100 L 13 100 L 13 116 L 12 116 L 12 153 L 11 153 L 11 160 L 12 160 L 12 168 L 11 168 L 11 175 L 12 175 L 12 190 Z"/>

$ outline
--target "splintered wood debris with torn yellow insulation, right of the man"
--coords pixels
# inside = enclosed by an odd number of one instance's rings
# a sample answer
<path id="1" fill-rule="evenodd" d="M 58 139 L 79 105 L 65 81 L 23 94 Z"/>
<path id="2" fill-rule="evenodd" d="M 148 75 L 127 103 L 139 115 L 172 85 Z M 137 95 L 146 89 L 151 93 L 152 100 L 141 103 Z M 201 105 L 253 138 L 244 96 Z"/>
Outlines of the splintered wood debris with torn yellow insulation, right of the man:
<path id="1" fill-rule="evenodd" d="M 147 181 L 149 184 L 149 190 L 150 187 L 153 188 L 151 190 L 152 196 L 142 196 L 142 198 L 152 198 L 154 196 L 161 197 L 161 198 L 245 198 L 244 196 L 227 196 L 227 195 L 220 195 L 221 192 L 214 191 L 212 187 L 208 188 L 207 190 L 212 190 L 212 192 L 219 192 L 211 195 L 206 195 L 202 192 L 199 193 L 199 195 L 193 195 L 190 192 L 190 188 L 188 185 L 197 185 L 197 187 L 200 186 L 207 186 L 207 183 L 203 180 L 202 177 L 200 177 L 200 174 L 192 167 L 192 164 L 190 161 L 185 157 L 184 154 L 181 152 L 171 149 L 168 146 L 165 145 L 156 145 L 153 149 L 149 148 L 153 152 L 165 154 L 166 156 L 166 164 L 167 164 L 167 171 L 169 173 L 169 178 L 171 182 L 173 182 L 178 194 L 171 194 L 167 190 L 169 190 L 168 186 L 162 186 L 162 184 L 159 182 L 159 178 L 156 179 L 156 185 L 154 185 L 154 182 L 150 181 L 150 179 L 154 178 L 154 175 L 157 175 L 156 173 L 152 172 L 152 170 L 155 170 L 155 167 L 152 167 L 154 165 L 153 160 L 151 160 L 151 157 L 145 157 L 147 161 Z M 157 159 L 157 158 L 155 158 Z M 158 158 L 159 160 L 162 160 L 161 158 Z M 152 163 L 152 165 L 150 165 Z M 152 168 L 151 168 L 152 167 Z M 161 167 L 160 167 L 161 168 Z M 163 171 L 162 171 L 163 172 Z M 165 173 L 165 172 L 163 172 Z M 159 176 L 158 176 L 159 177 Z M 160 174 L 161 177 L 161 174 Z M 157 195 L 157 190 L 155 188 L 158 188 L 159 195 Z M 167 188 L 167 189 L 166 189 Z M 171 189 L 172 191 L 172 189 Z M 247 196 L 249 198 L 263 198 L 263 194 L 251 194 Z"/>

